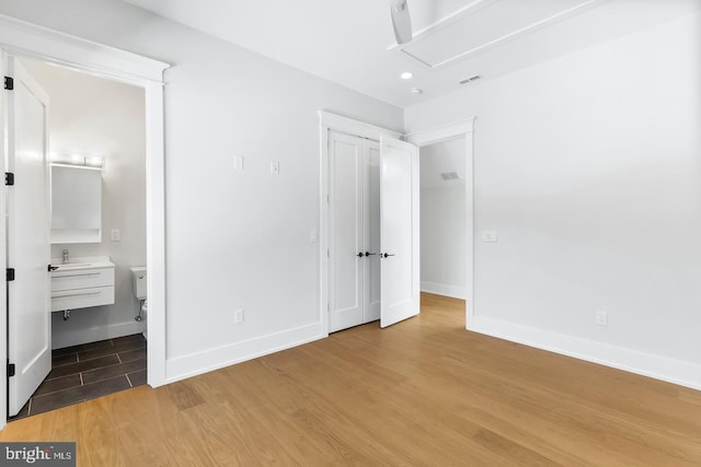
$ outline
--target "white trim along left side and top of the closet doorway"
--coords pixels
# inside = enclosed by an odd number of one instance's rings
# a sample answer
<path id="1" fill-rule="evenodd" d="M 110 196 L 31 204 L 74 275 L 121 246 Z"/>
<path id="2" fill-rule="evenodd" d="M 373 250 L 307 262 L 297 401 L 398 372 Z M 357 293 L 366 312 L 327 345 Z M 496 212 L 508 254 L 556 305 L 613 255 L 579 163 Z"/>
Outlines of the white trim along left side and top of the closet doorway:
<path id="1" fill-rule="evenodd" d="M 319 320 L 321 337 L 329 336 L 329 131 L 340 131 L 379 141 L 381 136 L 399 139 L 402 133 L 353 118 L 319 110 L 321 135 L 319 187 Z"/>

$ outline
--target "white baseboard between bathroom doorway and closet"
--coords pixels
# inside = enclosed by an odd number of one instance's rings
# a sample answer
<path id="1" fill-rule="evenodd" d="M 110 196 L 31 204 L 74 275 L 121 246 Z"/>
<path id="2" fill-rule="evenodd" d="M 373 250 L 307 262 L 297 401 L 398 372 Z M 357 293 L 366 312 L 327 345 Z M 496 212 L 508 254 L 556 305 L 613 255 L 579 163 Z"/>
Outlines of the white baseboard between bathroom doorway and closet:
<path id="1" fill-rule="evenodd" d="M 321 323 L 314 323 L 242 342 L 169 359 L 165 361 L 165 384 L 301 346 L 323 337 L 326 337 L 326 335 L 321 331 Z"/>

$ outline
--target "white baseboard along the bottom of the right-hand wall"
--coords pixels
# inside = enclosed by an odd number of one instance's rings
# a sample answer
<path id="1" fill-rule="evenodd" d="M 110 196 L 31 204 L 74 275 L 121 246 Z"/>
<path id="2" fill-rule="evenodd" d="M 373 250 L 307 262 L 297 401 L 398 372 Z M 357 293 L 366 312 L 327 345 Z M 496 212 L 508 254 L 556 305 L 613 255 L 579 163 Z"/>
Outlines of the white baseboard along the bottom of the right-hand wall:
<path id="1" fill-rule="evenodd" d="M 575 359 L 701 389 L 701 365 L 608 343 L 474 316 L 468 329 Z"/>

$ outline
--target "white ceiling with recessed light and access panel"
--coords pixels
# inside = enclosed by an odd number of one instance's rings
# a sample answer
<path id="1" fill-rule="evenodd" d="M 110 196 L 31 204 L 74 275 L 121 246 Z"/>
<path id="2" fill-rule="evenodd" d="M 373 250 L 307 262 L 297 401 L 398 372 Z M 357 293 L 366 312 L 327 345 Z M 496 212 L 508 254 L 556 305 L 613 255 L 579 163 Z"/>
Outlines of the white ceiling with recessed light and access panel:
<path id="1" fill-rule="evenodd" d="M 414 39 L 398 47 L 387 0 L 125 1 L 400 107 L 701 9 L 701 0 L 407 0 Z M 414 77 L 401 80 L 404 71 Z"/>

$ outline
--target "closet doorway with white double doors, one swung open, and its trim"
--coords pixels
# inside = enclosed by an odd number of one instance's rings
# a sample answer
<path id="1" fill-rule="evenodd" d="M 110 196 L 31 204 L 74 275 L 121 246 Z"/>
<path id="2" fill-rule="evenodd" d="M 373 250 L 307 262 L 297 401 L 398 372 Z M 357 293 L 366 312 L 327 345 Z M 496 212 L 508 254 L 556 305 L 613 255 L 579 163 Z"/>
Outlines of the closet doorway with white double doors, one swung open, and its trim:
<path id="1" fill-rule="evenodd" d="M 418 148 L 321 114 L 322 322 L 387 327 L 420 311 Z"/>

